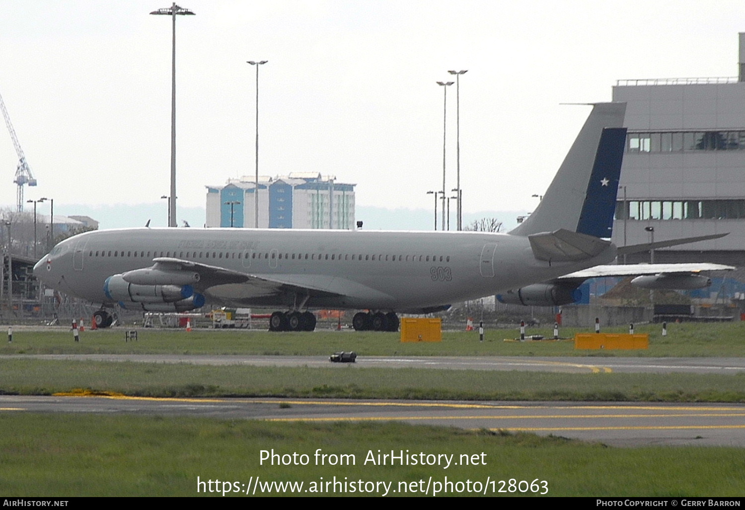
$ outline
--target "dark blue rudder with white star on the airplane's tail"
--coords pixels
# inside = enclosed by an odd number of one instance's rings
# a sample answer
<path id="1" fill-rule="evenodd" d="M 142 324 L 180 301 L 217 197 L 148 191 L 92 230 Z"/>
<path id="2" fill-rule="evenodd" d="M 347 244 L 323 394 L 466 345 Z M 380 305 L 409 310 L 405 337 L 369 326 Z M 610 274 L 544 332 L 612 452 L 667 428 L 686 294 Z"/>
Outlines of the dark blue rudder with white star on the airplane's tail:
<path id="1" fill-rule="evenodd" d="M 613 233 L 613 213 L 626 146 L 625 127 L 606 127 L 600 135 L 585 203 L 577 232 L 609 238 Z"/>

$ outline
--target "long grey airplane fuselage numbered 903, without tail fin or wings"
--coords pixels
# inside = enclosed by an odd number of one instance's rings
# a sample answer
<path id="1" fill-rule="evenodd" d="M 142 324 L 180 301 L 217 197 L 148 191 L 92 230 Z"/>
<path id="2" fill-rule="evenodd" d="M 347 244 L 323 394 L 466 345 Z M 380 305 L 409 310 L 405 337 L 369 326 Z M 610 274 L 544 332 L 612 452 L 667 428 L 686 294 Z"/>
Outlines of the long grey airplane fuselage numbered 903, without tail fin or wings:
<path id="1" fill-rule="evenodd" d="M 415 312 L 493 295 L 610 262 L 615 246 L 580 262 L 536 260 L 527 237 L 503 233 L 243 228 L 133 228 L 61 242 L 34 274 L 62 292 L 111 305 L 104 282 L 170 257 L 298 287 L 320 289 L 307 308 Z M 203 289 L 233 306 L 297 305 L 297 295 L 262 295 L 249 283 Z"/>

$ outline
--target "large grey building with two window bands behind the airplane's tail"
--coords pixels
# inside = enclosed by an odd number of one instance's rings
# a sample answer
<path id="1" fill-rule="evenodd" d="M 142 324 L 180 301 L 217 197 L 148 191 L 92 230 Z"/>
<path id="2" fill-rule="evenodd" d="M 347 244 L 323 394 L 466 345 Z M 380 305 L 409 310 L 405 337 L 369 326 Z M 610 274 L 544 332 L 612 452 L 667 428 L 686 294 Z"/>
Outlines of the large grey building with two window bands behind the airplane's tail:
<path id="1" fill-rule="evenodd" d="M 620 80 L 613 101 L 627 103 L 628 128 L 613 242 L 729 233 L 656 250 L 655 262 L 743 268 L 745 34 L 740 34 L 738 77 Z M 626 262 L 649 261 L 647 252 Z"/>

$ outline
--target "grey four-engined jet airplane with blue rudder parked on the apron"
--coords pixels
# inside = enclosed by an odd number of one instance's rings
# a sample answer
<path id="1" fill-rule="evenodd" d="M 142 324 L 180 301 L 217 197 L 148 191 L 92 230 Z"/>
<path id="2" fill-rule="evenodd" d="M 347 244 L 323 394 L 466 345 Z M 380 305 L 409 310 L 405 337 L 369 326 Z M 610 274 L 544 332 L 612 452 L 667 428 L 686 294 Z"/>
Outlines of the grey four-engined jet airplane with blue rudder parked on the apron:
<path id="1" fill-rule="evenodd" d="M 355 330 L 615 259 L 611 236 L 625 104 L 594 104 L 536 211 L 510 233 L 128 228 L 60 242 L 34 267 L 46 286 L 101 303 L 186 312 L 206 300 L 273 307 L 270 330 L 313 330 L 309 309 L 367 309 Z M 574 281 L 574 280 L 572 280 Z M 560 283 L 552 283 L 562 298 Z M 564 292 L 565 293 L 565 292 Z M 571 292 L 570 292 L 571 294 Z"/>

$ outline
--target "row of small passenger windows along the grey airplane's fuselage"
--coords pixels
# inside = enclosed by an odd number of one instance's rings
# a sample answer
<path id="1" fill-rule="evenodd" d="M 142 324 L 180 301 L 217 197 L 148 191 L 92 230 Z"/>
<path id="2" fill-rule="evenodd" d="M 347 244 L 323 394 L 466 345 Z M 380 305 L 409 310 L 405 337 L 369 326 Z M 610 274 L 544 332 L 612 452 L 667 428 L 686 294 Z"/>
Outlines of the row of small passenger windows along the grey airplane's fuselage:
<path id="1" fill-rule="evenodd" d="M 291 260 L 377 260 L 390 262 L 450 262 L 449 255 L 385 255 L 385 254 L 280 254 L 257 252 L 222 252 L 222 251 L 89 251 L 89 256 L 127 256 L 148 258 L 171 256 L 179 259 L 291 259 Z"/>

